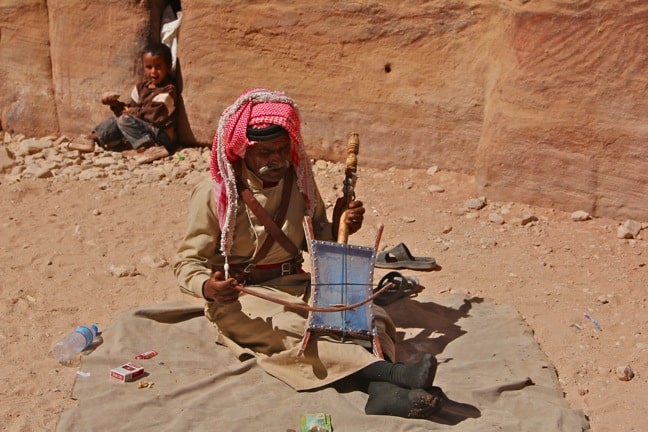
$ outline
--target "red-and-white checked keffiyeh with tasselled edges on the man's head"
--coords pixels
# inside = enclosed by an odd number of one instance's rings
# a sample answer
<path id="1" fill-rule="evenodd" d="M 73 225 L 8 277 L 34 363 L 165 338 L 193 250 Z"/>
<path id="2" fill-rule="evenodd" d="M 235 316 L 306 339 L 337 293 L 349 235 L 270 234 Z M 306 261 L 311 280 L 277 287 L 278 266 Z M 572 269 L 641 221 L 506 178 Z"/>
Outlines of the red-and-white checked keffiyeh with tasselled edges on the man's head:
<path id="1" fill-rule="evenodd" d="M 243 159 L 250 146 L 246 137 L 247 127 L 268 125 L 279 125 L 288 131 L 292 142 L 291 162 L 297 174 L 297 185 L 304 195 L 308 215 L 313 215 L 313 173 L 299 129 L 297 105 L 282 92 L 266 89 L 246 91 L 223 111 L 212 142 L 211 175 L 221 229 L 220 250 L 226 259 L 234 238 L 238 197 L 232 164 Z"/>

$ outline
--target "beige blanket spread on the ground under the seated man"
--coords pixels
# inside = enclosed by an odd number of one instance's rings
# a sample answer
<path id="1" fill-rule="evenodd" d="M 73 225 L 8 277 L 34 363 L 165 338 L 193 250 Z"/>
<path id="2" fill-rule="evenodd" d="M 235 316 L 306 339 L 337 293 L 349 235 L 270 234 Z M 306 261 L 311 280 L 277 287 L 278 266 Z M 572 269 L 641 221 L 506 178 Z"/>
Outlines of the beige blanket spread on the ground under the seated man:
<path id="1" fill-rule="evenodd" d="M 341 383 L 296 392 L 216 345 L 201 308 L 160 303 L 125 312 L 83 357 L 78 406 L 58 431 L 299 431 L 303 413 L 329 413 L 335 432 L 584 431 L 585 416 L 563 398 L 554 368 L 510 306 L 483 299 L 400 300 L 386 307 L 399 328 L 400 361 L 437 355 L 435 384 L 450 400 L 436 421 L 367 416 L 367 395 Z M 149 360 L 133 360 L 156 350 Z M 147 375 L 121 383 L 110 369 L 129 361 Z M 89 374 L 89 376 L 88 376 Z M 86 376 L 84 376 L 86 375 Z M 153 383 L 139 388 L 139 383 Z"/>

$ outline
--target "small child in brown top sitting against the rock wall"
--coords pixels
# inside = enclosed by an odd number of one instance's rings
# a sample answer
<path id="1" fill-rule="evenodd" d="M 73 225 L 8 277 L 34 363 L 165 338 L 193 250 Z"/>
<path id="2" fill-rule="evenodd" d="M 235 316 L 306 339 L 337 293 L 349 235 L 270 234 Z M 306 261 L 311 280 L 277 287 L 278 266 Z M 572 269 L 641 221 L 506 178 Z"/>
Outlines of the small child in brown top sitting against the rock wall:
<path id="1" fill-rule="evenodd" d="M 101 103 L 115 114 L 99 123 L 89 135 L 68 145 L 71 150 L 94 151 L 95 144 L 107 150 L 123 151 L 147 163 L 169 156 L 174 150 L 176 86 L 169 73 L 171 50 L 157 43 L 142 51 L 144 80 L 135 85 L 128 103 L 119 94 L 104 93 Z"/>

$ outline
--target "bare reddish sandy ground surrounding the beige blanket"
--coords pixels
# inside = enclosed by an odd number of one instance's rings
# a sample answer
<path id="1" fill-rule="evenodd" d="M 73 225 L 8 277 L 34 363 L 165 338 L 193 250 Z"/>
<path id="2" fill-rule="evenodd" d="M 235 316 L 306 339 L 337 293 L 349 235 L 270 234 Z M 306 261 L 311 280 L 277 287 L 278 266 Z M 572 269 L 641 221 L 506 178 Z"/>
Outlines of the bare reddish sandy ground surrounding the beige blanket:
<path id="1" fill-rule="evenodd" d="M 341 176 L 324 171 L 318 181 L 333 201 Z M 54 430 L 76 404 L 76 368 L 50 357 L 55 341 L 80 324 L 101 329 L 138 305 L 193 301 L 164 265 L 183 234 L 191 186 L 0 182 L 0 429 Z M 433 272 L 402 270 L 419 278 L 422 298 L 459 292 L 515 305 L 593 431 L 645 430 L 648 242 L 618 239 L 621 221 L 573 222 L 569 213 L 515 203 L 469 211 L 473 180 L 451 172 L 361 170 L 357 194 L 368 214 L 352 243 L 371 245 L 382 223 L 381 249 L 404 242 L 438 261 Z M 504 224 L 489 221 L 495 212 Z M 538 220 L 520 224 L 528 214 Z M 129 266 L 137 271 L 118 276 Z M 619 379 L 625 367 L 635 374 L 629 381 Z"/>

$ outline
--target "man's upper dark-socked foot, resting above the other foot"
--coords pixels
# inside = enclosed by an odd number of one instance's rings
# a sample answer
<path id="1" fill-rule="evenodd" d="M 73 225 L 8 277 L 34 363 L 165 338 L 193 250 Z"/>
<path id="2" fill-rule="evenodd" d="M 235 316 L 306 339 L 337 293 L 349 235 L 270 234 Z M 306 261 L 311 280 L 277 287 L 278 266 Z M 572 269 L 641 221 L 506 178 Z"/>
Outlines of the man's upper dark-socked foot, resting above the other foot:
<path id="1" fill-rule="evenodd" d="M 425 354 L 421 360 L 409 365 L 375 362 L 362 369 L 360 374 L 367 381 L 387 381 L 409 389 L 425 389 L 432 386 L 436 369 L 436 358 Z"/>

